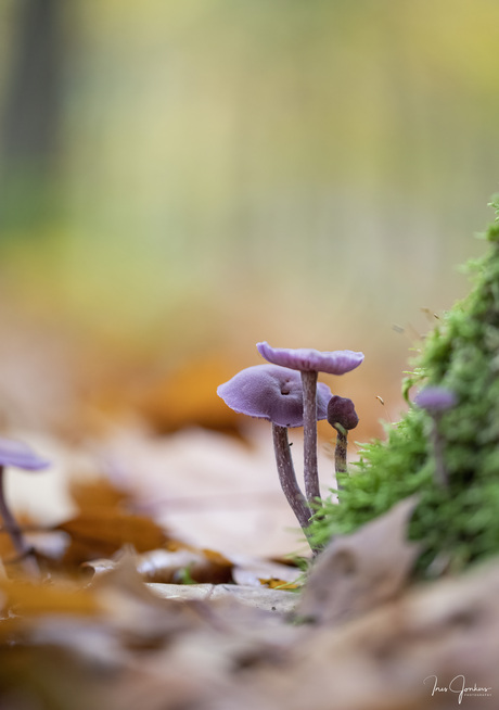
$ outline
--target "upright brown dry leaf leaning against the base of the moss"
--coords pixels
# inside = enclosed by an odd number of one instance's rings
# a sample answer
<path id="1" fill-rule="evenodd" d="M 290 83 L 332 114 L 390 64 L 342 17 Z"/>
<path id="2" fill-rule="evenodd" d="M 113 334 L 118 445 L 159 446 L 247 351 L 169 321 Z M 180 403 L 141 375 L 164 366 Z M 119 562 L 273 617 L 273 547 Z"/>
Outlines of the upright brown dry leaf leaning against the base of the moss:
<path id="1" fill-rule="evenodd" d="M 415 496 L 406 498 L 351 535 L 333 540 L 312 568 L 298 614 L 337 623 L 399 594 L 420 551 L 406 534 L 417 504 Z"/>

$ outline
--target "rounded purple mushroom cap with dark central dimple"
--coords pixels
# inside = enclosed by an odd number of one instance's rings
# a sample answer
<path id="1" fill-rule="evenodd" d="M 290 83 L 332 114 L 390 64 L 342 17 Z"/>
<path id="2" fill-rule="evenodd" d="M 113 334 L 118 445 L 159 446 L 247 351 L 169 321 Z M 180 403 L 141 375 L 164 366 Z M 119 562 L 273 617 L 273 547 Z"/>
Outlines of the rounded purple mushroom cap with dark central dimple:
<path id="1" fill-rule="evenodd" d="M 254 365 L 220 384 L 217 394 L 234 411 L 268 419 L 280 427 L 303 427 L 304 405 L 299 372 L 279 365 Z M 317 418 L 325 419 L 331 390 L 317 385 Z"/>

